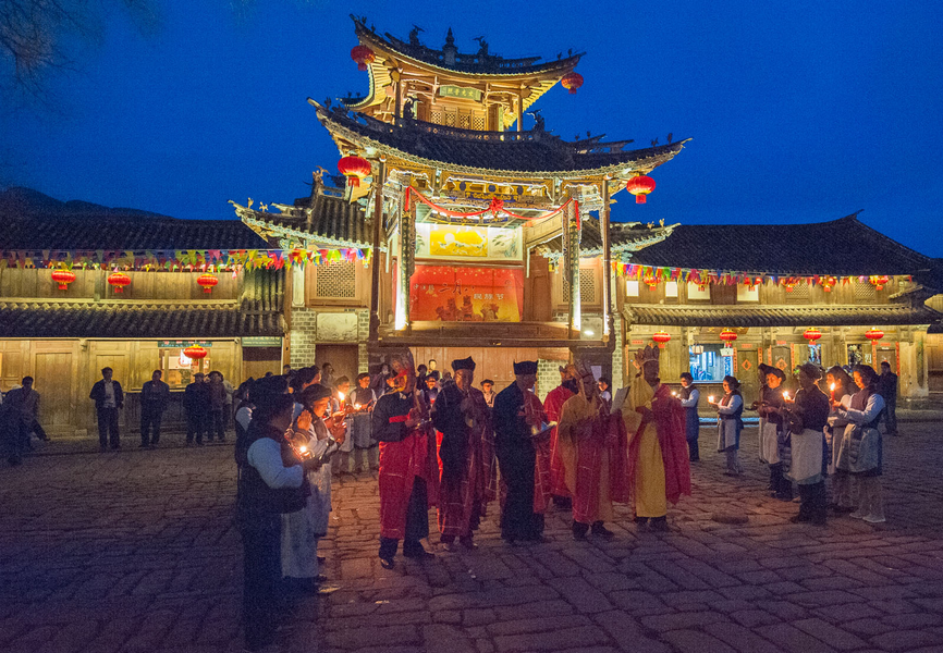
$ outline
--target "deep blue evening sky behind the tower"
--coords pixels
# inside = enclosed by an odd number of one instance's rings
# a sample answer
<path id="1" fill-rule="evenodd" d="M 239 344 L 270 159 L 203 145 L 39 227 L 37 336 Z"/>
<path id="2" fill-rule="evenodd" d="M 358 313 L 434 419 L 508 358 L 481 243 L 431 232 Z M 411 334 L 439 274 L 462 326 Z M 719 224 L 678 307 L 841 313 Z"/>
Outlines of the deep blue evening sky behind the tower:
<path id="1" fill-rule="evenodd" d="M 194 7 L 195 5 L 195 7 Z M 120 16 L 54 113 L 0 107 L 5 184 L 179 218 L 232 217 L 228 199 L 291 202 L 338 152 L 307 97 L 362 93 L 348 13 L 427 45 L 485 35 L 506 57 L 585 50 L 575 96 L 537 106 L 572 139 L 639 147 L 691 137 L 619 220 L 788 223 L 861 219 L 943 256 L 939 1 L 167 2 L 159 32 Z M 529 124 L 529 119 L 528 123 Z M 629 198 L 630 199 L 630 198 Z M 848 237 L 854 237 L 849 233 Z"/>

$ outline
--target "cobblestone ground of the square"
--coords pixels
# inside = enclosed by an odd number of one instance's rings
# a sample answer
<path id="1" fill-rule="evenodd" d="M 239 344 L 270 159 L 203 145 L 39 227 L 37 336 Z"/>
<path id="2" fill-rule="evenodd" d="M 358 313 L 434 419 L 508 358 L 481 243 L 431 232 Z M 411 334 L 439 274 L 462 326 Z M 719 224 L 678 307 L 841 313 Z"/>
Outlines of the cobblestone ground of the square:
<path id="1" fill-rule="evenodd" d="M 295 607 L 287 651 L 943 651 L 943 453 L 939 427 L 885 445 L 889 522 L 792 525 L 748 475 L 721 476 L 702 430 L 695 493 L 671 532 L 511 549 L 493 515 L 472 553 L 377 564 L 376 480 L 334 489 L 326 572 L 341 589 Z M 241 546 L 229 446 L 27 458 L 0 469 L 0 650 L 241 650 Z M 434 513 L 430 513 L 434 518 Z M 717 518 L 720 518 L 718 520 Z M 728 523 L 745 519 L 744 523 Z"/>

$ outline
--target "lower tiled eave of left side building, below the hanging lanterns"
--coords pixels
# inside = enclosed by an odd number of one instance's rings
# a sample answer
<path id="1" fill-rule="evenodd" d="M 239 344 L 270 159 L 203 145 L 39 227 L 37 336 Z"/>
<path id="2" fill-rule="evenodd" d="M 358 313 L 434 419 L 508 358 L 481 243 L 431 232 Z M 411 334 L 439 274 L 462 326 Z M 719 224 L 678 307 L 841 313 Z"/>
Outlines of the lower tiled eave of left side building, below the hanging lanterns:
<path id="1" fill-rule="evenodd" d="M 2 301 L 5 337 L 238 337 L 280 336 L 278 311 L 237 305 L 127 304 L 122 301 Z"/>

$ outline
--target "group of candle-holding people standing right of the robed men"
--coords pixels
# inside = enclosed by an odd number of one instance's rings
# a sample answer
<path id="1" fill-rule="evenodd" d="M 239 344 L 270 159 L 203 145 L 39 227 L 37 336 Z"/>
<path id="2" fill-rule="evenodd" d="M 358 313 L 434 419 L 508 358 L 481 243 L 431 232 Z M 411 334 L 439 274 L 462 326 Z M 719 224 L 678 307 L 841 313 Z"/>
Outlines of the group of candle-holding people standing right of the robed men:
<path id="1" fill-rule="evenodd" d="M 726 465 L 723 473 L 744 473 L 738 455 L 743 414 L 755 410 L 759 415 L 759 460 L 769 468 L 771 496 L 791 502 L 794 488 L 798 492 L 794 522 L 824 526 L 830 509 L 835 516 L 849 515 L 869 523 L 885 521 L 884 447 L 879 426 L 884 421 L 886 433 L 897 434 L 897 375 L 891 365 L 882 361 L 879 374 L 867 365 L 822 370 L 807 362 L 795 370 L 795 396 L 786 390 L 783 370 L 760 364 L 759 374 L 760 396 L 749 407 L 734 377 L 723 379 L 722 397 L 708 397 L 718 414 L 718 452 L 725 455 Z M 700 392 L 688 373 L 681 375 L 681 385 L 689 459 L 697 461 Z"/>

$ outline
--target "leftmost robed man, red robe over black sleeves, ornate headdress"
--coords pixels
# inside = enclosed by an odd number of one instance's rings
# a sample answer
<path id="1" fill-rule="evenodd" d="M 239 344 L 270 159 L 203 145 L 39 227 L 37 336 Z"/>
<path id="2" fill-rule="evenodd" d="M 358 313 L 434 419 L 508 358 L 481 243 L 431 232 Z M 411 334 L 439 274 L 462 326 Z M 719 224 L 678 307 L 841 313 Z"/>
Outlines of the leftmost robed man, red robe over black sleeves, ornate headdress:
<path id="1" fill-rule="evenodd" d="M 391 362 L 392 391 L 373 407 L 373 439 L 380 443 L 379 557 L 387 569 L 394 566 L 400 540 L 405 557 L 433 557 L 420 540 L 429 537 L 428 510 L 434 505 L 439 476 L 432 467 L 434 440 L 429 438 L 426 403 L 416 390 L 413 355 L 407 350 Z"/>

